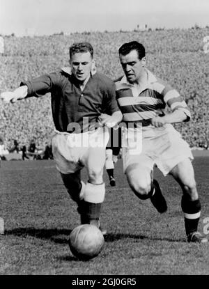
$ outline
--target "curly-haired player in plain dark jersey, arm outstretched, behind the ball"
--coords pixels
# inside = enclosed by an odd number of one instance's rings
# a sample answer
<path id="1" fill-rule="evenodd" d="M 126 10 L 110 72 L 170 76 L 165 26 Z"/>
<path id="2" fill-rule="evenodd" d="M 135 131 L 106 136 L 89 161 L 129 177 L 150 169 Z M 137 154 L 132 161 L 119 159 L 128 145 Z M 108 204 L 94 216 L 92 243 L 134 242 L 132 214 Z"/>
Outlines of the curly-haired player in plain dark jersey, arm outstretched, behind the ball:
<path id="1" fill-rule="evenodd" d="M 56 168 L 78 205 L 81 223 L 100 227 L 107 127 L 114 127 L 122 119 L 115 84 L 95 70 L 91 44 L 79 42 L 70 47 L 70 68 L 23 81 L 15 91 L 1 93 L 1 98 L 15 102 L 46 93 L 51 93 L 52 98 Z M 84 166 L 88 171 L 86 184 L 81 180 Z"/>

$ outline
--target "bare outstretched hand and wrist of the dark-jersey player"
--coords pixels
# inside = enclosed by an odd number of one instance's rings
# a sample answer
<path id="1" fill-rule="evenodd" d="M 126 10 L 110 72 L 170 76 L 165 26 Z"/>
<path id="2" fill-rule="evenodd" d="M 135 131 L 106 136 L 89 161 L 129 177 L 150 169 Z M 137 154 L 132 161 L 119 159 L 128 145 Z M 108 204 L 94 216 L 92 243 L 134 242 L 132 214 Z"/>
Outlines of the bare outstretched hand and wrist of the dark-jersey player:
<path id="1" fill-rule="evenodd" d="M 3 102 L 16 102 L 17 100 L 22 100 L 28 94 L 28 86 L 20 86 L 15 89 L 15 91 L 5 91 L 1 93 L 1 100 Z"/>

